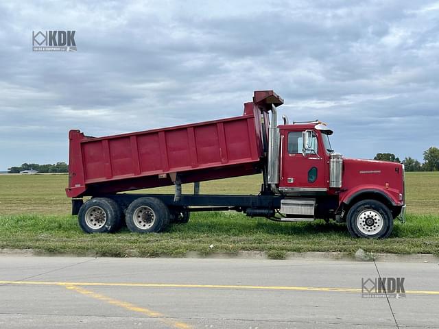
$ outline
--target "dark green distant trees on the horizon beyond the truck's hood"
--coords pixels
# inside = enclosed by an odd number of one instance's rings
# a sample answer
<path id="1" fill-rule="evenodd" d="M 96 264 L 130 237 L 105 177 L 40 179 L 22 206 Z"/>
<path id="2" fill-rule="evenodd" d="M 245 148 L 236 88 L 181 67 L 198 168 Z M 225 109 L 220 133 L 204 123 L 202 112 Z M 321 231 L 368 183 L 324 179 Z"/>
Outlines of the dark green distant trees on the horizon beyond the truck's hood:
<path id="1" fill-rule="evenodd" d="M 423 163 L 410 156 L 401 161 L 392 153 L 377 153 L 374 160 L 400 162 L 404 164 L 405 171 L 439 171 L 439 149 L 434 146 L 424 151 Z"/>

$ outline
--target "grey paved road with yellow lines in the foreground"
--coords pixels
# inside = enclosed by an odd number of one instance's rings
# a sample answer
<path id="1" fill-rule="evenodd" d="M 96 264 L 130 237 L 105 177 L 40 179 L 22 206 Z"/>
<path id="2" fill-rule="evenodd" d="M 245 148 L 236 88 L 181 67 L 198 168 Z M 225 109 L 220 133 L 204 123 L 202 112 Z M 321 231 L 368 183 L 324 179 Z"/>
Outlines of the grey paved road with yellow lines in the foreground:
<path id="1" fill-rule="evenodd" d="M 362 297 L 378 276 L 406 297 Z M 0 328 L 353 327 L 439 328 L 439 265 L 0 257 Z"/>

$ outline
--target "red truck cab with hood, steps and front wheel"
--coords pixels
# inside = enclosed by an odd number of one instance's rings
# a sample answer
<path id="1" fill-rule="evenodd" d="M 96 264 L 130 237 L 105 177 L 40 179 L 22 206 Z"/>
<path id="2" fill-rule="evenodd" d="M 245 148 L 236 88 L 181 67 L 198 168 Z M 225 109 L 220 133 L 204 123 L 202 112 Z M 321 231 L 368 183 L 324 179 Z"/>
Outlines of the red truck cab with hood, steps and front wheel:
<path id="1" fill-rule="evenodd" d="M 293 205 L 283 207 L 292 212 L 286 217 L 346 221 L 353 236 L 364 237 L 386 237 L 393 219 L 404 220 L 403 164 L 344 158 L 326 123 L 285 121 L 278 126 L 278 191 Z"/>

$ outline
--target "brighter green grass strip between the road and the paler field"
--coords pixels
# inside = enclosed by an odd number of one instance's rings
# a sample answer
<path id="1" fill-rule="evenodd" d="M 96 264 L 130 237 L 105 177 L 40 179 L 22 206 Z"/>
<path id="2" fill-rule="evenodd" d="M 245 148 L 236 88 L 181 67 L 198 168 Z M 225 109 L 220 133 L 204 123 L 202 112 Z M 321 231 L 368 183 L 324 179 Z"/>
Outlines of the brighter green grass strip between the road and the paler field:
<path id="1" fill-rule="evenodd" d="M 240 250 L 261 250 L 271 258 L 286 252 L 366 252 L 396 254 L 439 254 L 439 223 L 431 215 L 409 216 L 396 223 L 390 239 L 353 239 L 343 225 L 274 223 L 248 219 L 237 213 L 195 214 L 186 225 L 171 226 L 161 234 L 82 233 L 76 219 L 59 215 L 5 215 L 1 217 L 0 247 L 37 249 L 43 252 L 83 256 L 183 256 L 212 252 L 235 254 Z M 209 247 L 213 245 L 213 247 Z"/>

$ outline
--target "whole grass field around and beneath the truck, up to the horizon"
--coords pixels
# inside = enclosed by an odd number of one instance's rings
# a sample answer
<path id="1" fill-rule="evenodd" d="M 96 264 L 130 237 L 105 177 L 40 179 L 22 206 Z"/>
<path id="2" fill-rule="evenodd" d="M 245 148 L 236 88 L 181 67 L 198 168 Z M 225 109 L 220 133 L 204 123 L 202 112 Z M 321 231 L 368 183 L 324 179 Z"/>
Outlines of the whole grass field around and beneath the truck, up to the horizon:
<path id="1" fill-rule="evenodd" d="M 259 176 L 202 182 L 202 193 L 254 193 Z M 161 234 L 83 234 L 69 215 L 67 175 L 0 175 L 0 248 L 97 256 L 182 256 L 187 252 L 366 252 L 439 254 L 439 173 L 407 173 L 407 223 L 390 239 L 353 239 L 336 223 L 274 223 L 235 212 L 194 213 Z M 191 193 L 192 186 L 183 186 Z M 150 190 L 171 193 L 172 188 Z M 213 245 L 213 247 L 210 247 Z"/>

